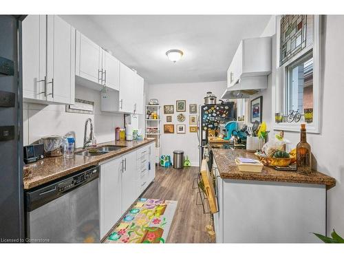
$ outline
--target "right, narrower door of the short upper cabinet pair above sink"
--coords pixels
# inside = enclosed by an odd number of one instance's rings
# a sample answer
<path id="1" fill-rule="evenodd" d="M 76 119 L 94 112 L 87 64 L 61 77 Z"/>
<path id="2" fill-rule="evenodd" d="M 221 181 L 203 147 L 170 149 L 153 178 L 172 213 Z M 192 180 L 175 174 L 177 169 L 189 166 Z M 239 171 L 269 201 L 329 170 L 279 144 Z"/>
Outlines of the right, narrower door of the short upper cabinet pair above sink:
<path id="1" fill-rule="evenodd" d="M 111 89 L 120 90 L 120 61 L 103 50 L 104 83 Z"/>

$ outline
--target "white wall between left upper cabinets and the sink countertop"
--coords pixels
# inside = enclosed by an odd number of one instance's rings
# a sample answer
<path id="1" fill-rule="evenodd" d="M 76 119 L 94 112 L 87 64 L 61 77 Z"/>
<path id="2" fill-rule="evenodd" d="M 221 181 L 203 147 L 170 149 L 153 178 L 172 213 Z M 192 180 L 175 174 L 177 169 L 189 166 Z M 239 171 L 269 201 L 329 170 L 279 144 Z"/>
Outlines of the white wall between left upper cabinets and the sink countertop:
<path id="1" fill-rule="evenodd" d="M 115 128 L 123 127 L 123 115 L 100 111 L 100 92 L 76 85 L 76 98 L 94 101 L 94 114 L 66 113 L 65 105 L 40 105 L 24 103 L 24 145 L 51 134 L 76 133 L 76 147 L 83 146 L 85 122 L 94 121 L 94 133 L 98 143 L 115 139 Z"/>

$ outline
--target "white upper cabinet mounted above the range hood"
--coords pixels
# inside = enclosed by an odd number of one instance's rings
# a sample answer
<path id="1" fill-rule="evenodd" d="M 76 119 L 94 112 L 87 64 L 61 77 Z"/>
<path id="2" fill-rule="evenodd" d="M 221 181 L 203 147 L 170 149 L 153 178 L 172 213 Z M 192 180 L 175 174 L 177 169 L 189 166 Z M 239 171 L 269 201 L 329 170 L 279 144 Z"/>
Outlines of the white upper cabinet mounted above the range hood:
<path id="1" fill-rule="evenodd" d="M 228 87 L 240 78 L 271 73 L 271 37 L 243 39 L 227 71 Z"/>

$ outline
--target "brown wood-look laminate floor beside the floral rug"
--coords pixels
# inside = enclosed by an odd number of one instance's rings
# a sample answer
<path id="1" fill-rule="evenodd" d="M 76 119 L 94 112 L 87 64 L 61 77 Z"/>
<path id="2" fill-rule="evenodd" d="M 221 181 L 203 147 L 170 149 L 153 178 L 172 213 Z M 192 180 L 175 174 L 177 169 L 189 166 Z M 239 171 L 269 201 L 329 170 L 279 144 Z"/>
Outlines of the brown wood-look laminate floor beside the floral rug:
<path id="1" fill-rule="evenodd" d="M 197 177 L 198 171 L 196 166 L 184 169 L 157 166 L 153 184 L 142 195 L 144 198 L 178 201 L 167 243 L 211 242 L 206 232 L 210 215 L 204 214 L 202 206 L 196 205 L 197 191 L 193 189 L 193 178 Z"/>

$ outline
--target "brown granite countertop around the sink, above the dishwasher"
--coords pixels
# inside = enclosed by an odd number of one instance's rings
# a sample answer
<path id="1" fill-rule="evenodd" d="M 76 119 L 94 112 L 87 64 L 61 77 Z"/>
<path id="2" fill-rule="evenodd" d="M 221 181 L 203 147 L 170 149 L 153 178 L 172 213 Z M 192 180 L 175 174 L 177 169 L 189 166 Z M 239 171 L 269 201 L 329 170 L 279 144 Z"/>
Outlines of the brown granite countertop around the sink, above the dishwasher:
<path id="1" fill-rule="evenodd" d="M 63 156 L 43 158 L 38 162 L 34 162 L 28 166 L 24 166 L 23 171 L 23 182 L 24 189 L 32 189 L 41 184 L 45 184 L 52 180 L 62 178 L 65 175 L 79 171 L 80 169 L 85 169 L 88 166 L 97 165 L 99 162 L 108 160 L 109 158 L 114 158 L 118 155 L 122 155 L 128 151 L 132 151 L 138 147 L 142 147 L 149 142 L 155 141 L 154 139 L 144 139 L 144 140 L 117 140 L 112 142 L 104 142 L 102 144 L 97 144 L 97 147 L 102 147 L 106 145 L 116 145 L 125 146 L 125 148 L 118 149 L 116 151 L 110 151 L 103 155 L 87 157 L 83 155 L 74 155 L 74 158 L 63 158 Z M 91 148 L 87 148 L 91 149 Z M 81 148 L 76 149 L 76 152 L 82 151 Z"/>

